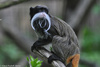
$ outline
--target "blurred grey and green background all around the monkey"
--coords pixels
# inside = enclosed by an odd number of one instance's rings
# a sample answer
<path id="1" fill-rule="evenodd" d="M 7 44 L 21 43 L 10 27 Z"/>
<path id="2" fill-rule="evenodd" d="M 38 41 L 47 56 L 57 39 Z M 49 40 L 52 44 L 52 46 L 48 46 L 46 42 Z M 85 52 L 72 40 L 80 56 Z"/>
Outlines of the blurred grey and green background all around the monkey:
<path id="1" fill-rule="evenodd" d="M 81 50 L 79 67 L 100 67 L 100 0 L 0 0 L 0 65 L 25 67 L 37 40 L 29 8 L 46 5 L 50 14 L 75 31 Z M 50 67 L 43 62 L 42 67 Z"/>

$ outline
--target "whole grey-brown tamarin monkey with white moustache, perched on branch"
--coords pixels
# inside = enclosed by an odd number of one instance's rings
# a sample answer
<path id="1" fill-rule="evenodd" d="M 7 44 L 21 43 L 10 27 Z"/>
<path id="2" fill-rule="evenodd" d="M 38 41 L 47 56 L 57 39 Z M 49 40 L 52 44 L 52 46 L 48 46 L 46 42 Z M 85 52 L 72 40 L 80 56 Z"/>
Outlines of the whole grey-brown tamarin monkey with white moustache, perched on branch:
<path id="1" fill-rule="evenodd" d="M 63 20 L 49 14 L 46 6 L 30 8 L 31 26 L 38 34 L 38 40 L 32 45 L 31 51 L 52 44 L 52 52 L 48 62 L 60 60 L 66 66 L 78 67 L 80 50 L 78 39 L 72 28 Z"/>

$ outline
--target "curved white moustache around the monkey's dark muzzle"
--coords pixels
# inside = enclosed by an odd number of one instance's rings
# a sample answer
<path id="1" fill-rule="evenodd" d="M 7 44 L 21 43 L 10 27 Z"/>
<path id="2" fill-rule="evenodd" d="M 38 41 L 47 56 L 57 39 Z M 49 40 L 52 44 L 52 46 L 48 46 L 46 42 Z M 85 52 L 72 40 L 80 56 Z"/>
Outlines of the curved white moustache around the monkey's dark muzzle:
<path id="1" fill-rule="evenodd" d="M 32 20 L 31 20 L 31 27 L 35 30 L 35 28 L 34 28 L 34 21 L 35 21 L 35 19 L 37 19 L 37 18 L 46 18 L 47 19 L 47 21 L 48 21 L 48 23 L 49 23 L 49 27 L 47 28 L 47 30 L 45 30 L 45 31 L 48 31 L 49 29 L 50 29 L 50 27 L 51 27 L 51 21 L 50 21 L 50 17 L 48 16 L 48 14 L 46 14 L 45 12 L 39 12 L 39 13 L 36 13 L 34 16 L 33 16 L 33 18 L 32 18 Z"/>

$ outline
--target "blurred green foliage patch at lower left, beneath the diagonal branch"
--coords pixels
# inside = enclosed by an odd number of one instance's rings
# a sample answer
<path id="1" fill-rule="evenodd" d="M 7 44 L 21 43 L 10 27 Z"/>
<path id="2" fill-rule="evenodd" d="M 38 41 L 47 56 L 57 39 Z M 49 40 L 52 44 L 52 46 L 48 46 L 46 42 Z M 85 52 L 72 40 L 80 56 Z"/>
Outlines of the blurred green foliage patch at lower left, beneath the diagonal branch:
<path id="1" fill-rule="evenodd" d="M 21 51 L 10 39 L 6 38 L 5 43 L 0 46 L 0 65 L 13 64 L 21 59 L 25 53 Z"/>

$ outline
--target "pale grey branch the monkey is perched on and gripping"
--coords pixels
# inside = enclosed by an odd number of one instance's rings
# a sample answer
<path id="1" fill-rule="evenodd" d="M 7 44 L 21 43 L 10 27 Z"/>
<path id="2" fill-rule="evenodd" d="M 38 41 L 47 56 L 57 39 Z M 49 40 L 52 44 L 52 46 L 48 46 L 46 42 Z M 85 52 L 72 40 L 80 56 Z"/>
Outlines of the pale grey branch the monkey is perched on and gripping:
<path id="1" fill-rule="evenodd" d="M 39 56 L 42 60 L 44 61 L 48 61 L 48 58 L 49 56 L 52 55 L 51 52 L 49 52 L 48 50 L 46 50 L 45 48 L 41 48 L 41 49 L 37 49 L 37 50 L 33 50 L 33 52 Z M 56 61 L 53 61 L 52 63 L 52 66 L 53 67 L 66 67 L 61 61 L 59 60 L 56 60 Z"/>

